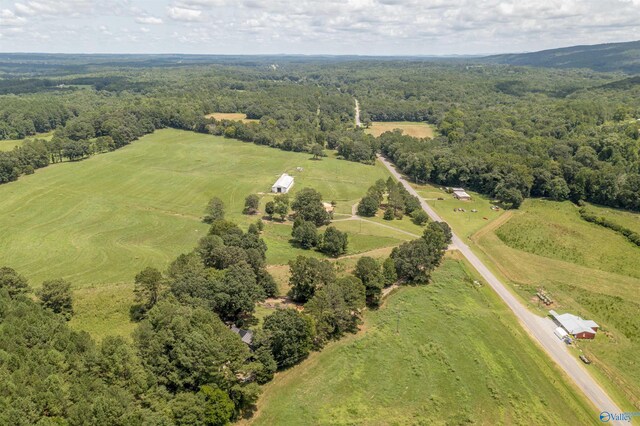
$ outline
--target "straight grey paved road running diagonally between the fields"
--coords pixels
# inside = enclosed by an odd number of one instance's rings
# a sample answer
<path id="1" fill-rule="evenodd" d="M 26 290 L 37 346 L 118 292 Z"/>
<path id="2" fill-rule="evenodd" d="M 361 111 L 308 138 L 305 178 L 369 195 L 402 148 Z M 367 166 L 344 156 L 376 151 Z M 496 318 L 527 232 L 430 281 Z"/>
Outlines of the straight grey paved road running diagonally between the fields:
<path id="1" fill-rule="evenodd" d="M 443 220 L 438 214 L 426 203 L 426 201 L 418 195 L 418 193 L 409 185 L 409 183 L 396 171 L 393 164 L 384 157 L 379 156 L 378 159 L 387 169 L 398 179 L 404 187 L 412 195 L 420 200 L 420 204 L 424 211 L 431 219 L 439 222 Z M 542 348 L 549 356 L 565 371 L 565 373 L 582 389 L 585 395 L 591 400 L 593 405 L 598 409 L 598 413 L 608 411 L 609 413 L 621 413 L 618 406 L 609 398 L 604 390 L 591 377 L 586 368 L 580 364 L 567 350 L 566 345 L 562 343 L 554 334 L 555 325 L 549 318 L 541 318 L 530 312 L 509 290 L 496 278 L 496 276 L 482 263 L 469 246 L 467 246 L 456 234 L 453 234 L 453 245 L 467 258 L 474 268 L 482 275 L 496 293 L 504 300 L 514 314 L 520 320 L 520 323 L 529 334 L 537 340 Z M 599 421 L 598 414 L 594 414 L 594 422 Z M 614 422 L 609 422 L 610 424 Z M 621 423 L 622 424 L 622 423 Z M 628 423 L 625 423 L 628 424 Z"/>

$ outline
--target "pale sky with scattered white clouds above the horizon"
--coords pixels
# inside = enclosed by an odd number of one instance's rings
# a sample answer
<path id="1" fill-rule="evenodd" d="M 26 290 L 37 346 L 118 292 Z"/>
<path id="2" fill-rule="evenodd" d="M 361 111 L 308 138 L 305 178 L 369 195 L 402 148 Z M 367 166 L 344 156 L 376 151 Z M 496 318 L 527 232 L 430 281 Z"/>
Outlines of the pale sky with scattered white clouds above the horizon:
<path id="1" fill-rule="evenodd" d="M 0 0 L 0 52 L 477 55 L 639 30 L 640 0 Z"/>

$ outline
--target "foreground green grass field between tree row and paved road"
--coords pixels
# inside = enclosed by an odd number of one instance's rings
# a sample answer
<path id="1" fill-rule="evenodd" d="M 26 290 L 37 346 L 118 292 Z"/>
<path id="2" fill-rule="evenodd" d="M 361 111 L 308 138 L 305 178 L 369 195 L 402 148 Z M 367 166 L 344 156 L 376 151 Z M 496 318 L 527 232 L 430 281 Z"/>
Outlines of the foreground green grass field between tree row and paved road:
<path id="1" fill-rule="evenodd" d="M 566 424 L 597 422 L 585 400 L 494 292 L 449 259 L 405 287 L 362 331 L 265 386 L 247 423 Z"/>

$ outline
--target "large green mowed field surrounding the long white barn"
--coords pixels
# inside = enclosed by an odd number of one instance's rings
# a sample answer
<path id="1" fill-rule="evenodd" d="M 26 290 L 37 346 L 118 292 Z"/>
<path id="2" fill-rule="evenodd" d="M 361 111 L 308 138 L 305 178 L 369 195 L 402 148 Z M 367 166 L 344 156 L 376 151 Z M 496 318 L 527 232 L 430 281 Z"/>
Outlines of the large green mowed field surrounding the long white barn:
<path id="1" fill-rule="evenodd" d="M 49 166 L 0 186 L 0 263 L 36 288 L 45 279 L 68 279 L 76 299 L 72 325 L 97 337 L 128 335 L 133 277 L 147 266 L 163 270 L 195 247 L 208 229 L 201 217 L 211 197 L 222 198 L 227 217 L 246 229 L 258 217 L 241 214 L 244 198 L 269 191 L 283 172 L 296 178 L 293 193 L 313 187 L 349 206 L 388 177 L 380 165 L 310 157 L 162 130 L 112 153 Z M 265 194 L 263 205 L 269 199 Z M 411 239 L 375 225 L 336 225 L 352 234 L 350 254 Z M 290 233 L 290 224 L 267 224 L 269 263 L 320 256 L 291 247 Z"/>

